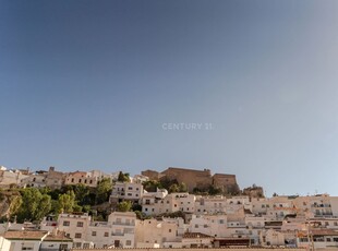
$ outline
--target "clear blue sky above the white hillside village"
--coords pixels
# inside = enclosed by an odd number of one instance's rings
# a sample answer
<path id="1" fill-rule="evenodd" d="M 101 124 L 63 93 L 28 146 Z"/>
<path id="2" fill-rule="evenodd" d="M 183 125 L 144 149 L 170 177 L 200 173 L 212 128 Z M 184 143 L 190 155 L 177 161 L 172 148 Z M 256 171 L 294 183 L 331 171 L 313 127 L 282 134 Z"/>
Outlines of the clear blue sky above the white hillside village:
<path id="1" fill-rule="evenodd" d="M 268 195 L 338 195 L 337 13 L 336 0 L 2 0 L 0 165 L 210 168 Z"/>

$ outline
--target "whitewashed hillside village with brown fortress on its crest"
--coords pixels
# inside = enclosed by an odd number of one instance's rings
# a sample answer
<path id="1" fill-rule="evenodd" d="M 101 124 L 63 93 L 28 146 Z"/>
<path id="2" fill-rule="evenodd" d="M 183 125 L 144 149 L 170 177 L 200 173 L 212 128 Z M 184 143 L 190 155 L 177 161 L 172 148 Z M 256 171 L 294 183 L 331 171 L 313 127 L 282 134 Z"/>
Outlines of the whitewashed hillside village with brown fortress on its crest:
<path id="1" fill-rule="evenodd" d="M 79 204 L 20 220 L 23 191 L 111 186 L 90 210 Z M 338 198 L 328 194 L 265 198 L 261 187 L 240 190 L 236 176 L 170 167 L 129 177 L 98 170 L 31 172 L 1 167 L 0 250 L 90 248 L 338 248 Z M 164 188 L 166 187 L 166 188 Z M 31 190 L 29 190 L 31 189 Z M 88 191 L 89 191 L 88 190 Z M 73 190 L 72 190 L 73 191 Z M 82 190 L 84 191 L 84 190 Z M 69 192 L 69 191 L 68 191 Z M 44 198 L 44 192 L 41 193 Z M 90 194 L 88 192 L 88 194 Z M 14 198 L 14 199 L 13 199 Z M 58 198 L 64 199 L 63 194 Z M 88 195 L 89 198 L 89 195 Z M 56 201 L 60 204 L 62 201 Z M 95 198 L 98 202 L 98 198 Z M 29 204 L 22 204 L 31 207 Z M 99 206 L 106 217 L 98 217 Z M 38 212 L 43 207 L 37 206 Z M 17 211 L 19 212 L 19 211 Z M 17 217 L 16 217 L 17 216 Z"/>

